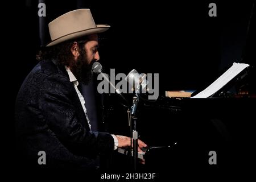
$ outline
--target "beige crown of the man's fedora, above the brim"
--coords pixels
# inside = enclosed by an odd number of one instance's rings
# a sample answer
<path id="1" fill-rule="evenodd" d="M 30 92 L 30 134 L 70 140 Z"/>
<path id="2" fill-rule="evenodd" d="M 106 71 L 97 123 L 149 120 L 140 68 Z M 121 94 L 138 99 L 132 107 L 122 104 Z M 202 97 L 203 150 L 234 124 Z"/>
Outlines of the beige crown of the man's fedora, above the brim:
<path id="1" fill-rule="evenodd" d="M 96 28 L 90 9 L 79 9 L 69 11 L 48 24 L 51 40 L 74 32 Z"/>

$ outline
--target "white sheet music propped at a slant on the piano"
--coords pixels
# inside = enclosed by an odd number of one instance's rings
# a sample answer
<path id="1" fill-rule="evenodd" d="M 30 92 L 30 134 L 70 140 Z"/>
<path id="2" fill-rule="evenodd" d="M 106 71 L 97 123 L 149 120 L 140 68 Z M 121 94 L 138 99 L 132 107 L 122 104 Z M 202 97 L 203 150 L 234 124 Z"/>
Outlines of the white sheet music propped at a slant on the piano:
<path id="1" fill-rule="evenodd" d="M 225 73 L 223 73 L 220 77 L 218 77 L 217 80 L 215 80 L 202 92 L 196 94 L 196 96 L 193 96 L 191 98 L 207 98 L 212 96 L 212 94 L 216 93 L 224 85 L 228 84 L 230 80 L 236 77 L 246 67 L 249 67 L 249 64 L 233 63 L 232 67 L 230 67 Z"/>

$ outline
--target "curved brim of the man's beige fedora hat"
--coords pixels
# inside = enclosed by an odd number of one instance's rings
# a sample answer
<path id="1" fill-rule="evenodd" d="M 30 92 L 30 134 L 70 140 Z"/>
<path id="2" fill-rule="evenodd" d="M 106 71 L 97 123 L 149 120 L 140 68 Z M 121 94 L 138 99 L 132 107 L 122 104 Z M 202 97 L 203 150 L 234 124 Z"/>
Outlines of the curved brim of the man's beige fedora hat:
<path id="1" fill-rule="evenodd" d="M 109 27 L 110 26 L 108 24 L 96 24 L 95 28 L 90 28 L 90 29 L 86 29 L 86 30 L 82 30 L 82 31 L 78 31 L 78 32 L 73 32 L 71 34 L 64 35 L 64 36 L 61 36 L 60 38 L 52 40 L 51 42 L 46 44 L 46 47 L 54 46 L 56 44 L 66 41 L 66 40 L 80 38 L 81 36 L 105 32 L 106 30 L 109 29 Z"/>

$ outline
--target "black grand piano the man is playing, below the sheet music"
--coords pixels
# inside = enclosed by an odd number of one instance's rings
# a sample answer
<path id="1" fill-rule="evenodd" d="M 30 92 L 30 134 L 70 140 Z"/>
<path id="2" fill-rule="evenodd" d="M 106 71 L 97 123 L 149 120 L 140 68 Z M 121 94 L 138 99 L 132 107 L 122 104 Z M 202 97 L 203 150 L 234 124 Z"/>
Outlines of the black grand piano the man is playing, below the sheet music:
<path id="1" fill-rule="evenodd" d="M 226 173 L 227 168 L 233 172 L 240 169 L 250 172 L 256 152 L 256 97 L 252 89 L 255 86 L 251 86 L 254 73 L 254 68 L 245 69 L 208 98 L 160 96 L 156 101 L 149 101 L 142 95 L 137 110 L 137 131 L 139 139 L 149 148 L 144 154 L 145 164 L 139 164 L 138 171 L 156 172 L 165 177 L 170 172 L 218 175 Z M 127 107 L 115 95 L 109 95 L 105 103 L 105 131 L 130 136 Z M 216 154 L 217 164 L 209 162 L 212 152 Z M 133 171 L 131 156 L 116 152 L 113 159 L 109 166 L 113 171 Z"/>

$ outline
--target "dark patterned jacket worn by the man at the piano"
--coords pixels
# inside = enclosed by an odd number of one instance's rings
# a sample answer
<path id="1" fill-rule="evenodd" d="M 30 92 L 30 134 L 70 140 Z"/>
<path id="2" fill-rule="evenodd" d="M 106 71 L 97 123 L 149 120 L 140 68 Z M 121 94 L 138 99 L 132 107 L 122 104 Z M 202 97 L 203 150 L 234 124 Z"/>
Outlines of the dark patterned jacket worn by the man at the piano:
<path id="1" fill-rule="evenodd" d="M 38 152 L 45 151 L 45 167 L 90 169 L 98 154 L 114 148 L 110 134 L 90 131 L 73 83 L 55 61 L 40 61 L 26 77 L 15 121 L 20 154 L 34 166 Z"/>

